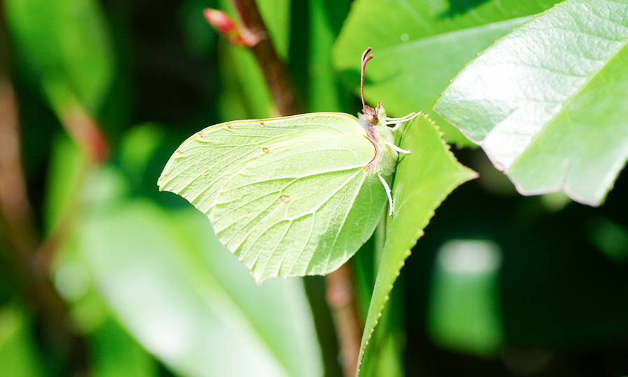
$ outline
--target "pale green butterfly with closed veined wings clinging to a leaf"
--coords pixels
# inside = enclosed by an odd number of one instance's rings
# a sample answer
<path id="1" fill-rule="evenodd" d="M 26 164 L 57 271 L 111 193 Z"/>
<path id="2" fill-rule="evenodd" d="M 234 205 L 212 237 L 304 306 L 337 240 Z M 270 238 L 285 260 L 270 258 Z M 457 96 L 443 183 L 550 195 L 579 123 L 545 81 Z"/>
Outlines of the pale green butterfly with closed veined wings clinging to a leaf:
<path id="1" fill-rule="evenodd" d="M 364 114 L 318 112 L 228 121 L 195 133 L 172 154 L 161 191 L 186 198 L 257 280 L 327 274 L 371 237 L 386 203 L 398 153 L 382 103 Z M 390 128 L 389 124 L 396 124 Z"/>

